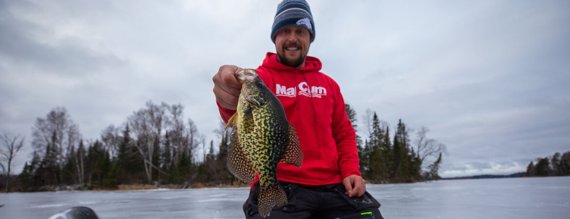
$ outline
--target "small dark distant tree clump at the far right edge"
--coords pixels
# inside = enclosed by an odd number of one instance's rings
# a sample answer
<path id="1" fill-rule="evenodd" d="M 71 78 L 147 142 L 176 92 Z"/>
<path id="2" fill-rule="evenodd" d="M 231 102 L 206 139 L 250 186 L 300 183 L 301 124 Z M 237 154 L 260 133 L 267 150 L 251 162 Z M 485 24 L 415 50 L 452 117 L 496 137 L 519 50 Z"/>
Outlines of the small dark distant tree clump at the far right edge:
<path id="1" fill-rule="evenodd" d="M 525 176 L 568 176 L 570 175 L 570 151 L 560 155 L 536 158 L 536 164 L 531 161 L 527 166 Z"/>

